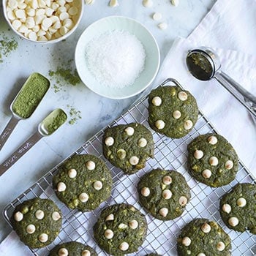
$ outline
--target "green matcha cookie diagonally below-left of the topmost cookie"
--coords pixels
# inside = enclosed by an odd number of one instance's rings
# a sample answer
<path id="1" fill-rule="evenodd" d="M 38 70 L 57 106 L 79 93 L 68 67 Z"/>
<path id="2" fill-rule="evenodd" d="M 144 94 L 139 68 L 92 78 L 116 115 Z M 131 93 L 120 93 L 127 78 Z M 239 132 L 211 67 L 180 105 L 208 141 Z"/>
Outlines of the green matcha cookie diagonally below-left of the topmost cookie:
<path id="1" fill-rule="evenodd" d="M 146 159 L 154 157 L 154 140 L 142 124 L 119 124 L 105 130 L 103 154 L 112 165 L 132 174 L 145 167 Z"/>

